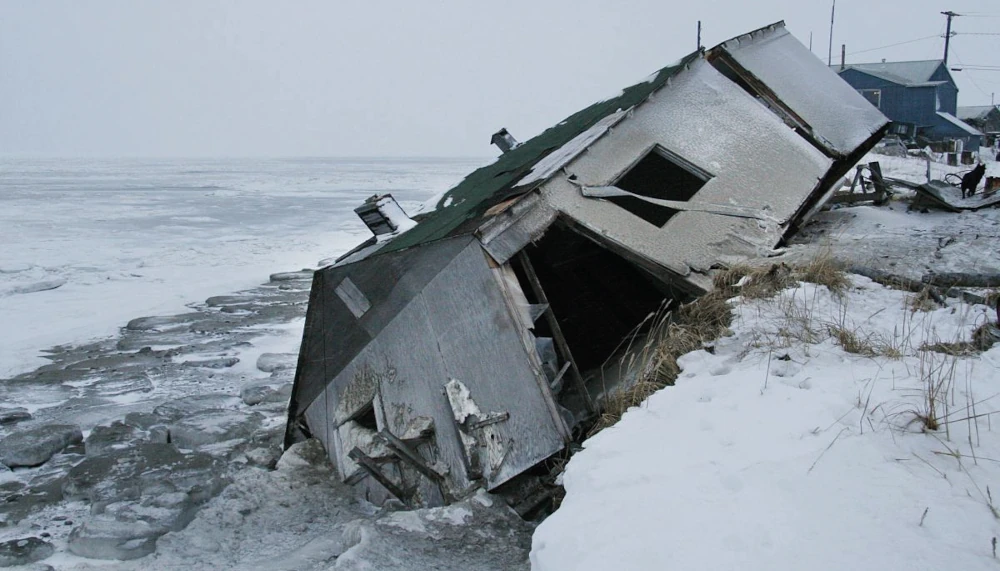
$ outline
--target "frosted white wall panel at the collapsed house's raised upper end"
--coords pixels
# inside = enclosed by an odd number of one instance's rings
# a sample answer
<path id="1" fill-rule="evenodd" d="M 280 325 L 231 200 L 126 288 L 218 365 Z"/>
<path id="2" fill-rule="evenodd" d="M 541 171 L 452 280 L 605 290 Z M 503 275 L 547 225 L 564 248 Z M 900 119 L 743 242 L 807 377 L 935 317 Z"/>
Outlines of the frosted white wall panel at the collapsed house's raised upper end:
<path id="1" fill-rule="evenodd" d="M 784 27 L 741 36 L 725 49 L 842 154 L 889 121 Z"/>

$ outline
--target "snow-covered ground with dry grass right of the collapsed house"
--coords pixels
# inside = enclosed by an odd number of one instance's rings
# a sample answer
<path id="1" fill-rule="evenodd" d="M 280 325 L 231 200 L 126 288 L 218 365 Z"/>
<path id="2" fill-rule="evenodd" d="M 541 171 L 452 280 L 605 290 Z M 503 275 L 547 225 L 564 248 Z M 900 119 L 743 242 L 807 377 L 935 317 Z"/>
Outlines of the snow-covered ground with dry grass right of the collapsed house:
<path id="1" fill-rule="evenodd" d="M 922 182 L 921 161 L 869 159 Z M 842 208 L 790 255 L 917 279 L 995 271 L 998 229 L 998 210 Z M 852 280 L 843 295 L 799 284 L 732 300 L 730 336 L 682 357 L 676 386 L 569 462 L 532 569 L 996 568 L 1000 345 L 962 357 L 925 347 L 968 340 L 996 314 L 954 299 L 913 311 L 913 294 Z M 838 328 L 870 354 L 846 352 Z"/>

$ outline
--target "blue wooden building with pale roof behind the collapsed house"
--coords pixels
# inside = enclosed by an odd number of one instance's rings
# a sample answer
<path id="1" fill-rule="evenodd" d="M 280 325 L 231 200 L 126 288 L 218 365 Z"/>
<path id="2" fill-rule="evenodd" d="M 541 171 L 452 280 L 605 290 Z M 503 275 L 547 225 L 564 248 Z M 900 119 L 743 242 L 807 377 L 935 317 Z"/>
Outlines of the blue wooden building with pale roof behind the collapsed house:
<path id="1" fill-rule="evenodd" d="M 892 119 L 893 130 L 978 149 L 982 134 L 957 117 L 958 87 L 942 60 L 857 63 L 834 70 Z"/>

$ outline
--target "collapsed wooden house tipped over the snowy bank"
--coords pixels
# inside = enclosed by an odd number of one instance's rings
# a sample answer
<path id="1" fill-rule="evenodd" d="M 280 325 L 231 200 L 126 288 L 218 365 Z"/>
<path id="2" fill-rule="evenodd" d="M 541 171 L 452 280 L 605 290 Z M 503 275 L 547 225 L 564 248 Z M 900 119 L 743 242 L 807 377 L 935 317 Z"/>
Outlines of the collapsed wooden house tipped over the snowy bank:
<path id="1" fill-rule="evenodd" d="M 629 381 L 651 314 L 782 244 L 887 126 L 779 22 L 497 133 L 415 225 L 370 200 L 377 236 L 315 274 L 286 444 L 319 438 L 375 503 L 497 489 Z"/>

